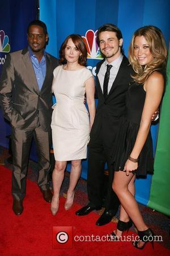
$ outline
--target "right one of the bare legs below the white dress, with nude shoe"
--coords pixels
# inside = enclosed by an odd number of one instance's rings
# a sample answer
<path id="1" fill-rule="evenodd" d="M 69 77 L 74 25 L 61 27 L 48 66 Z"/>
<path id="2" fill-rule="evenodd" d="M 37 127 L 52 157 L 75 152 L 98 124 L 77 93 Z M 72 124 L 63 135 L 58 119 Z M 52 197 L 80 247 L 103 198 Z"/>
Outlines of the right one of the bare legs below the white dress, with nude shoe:
<path id="1" fill-rule="evenodd" d="M 67 191 L 67 200 L 65 203 L 66 210 L 69 210 L 73 205 L 75 187 L 76 187 L 76 184 L 78 183 L 80 173 L 82 170 L 81 161 L 82 160 L 71 161 L 70 183 L 69 183 L 69 189 Z"/>

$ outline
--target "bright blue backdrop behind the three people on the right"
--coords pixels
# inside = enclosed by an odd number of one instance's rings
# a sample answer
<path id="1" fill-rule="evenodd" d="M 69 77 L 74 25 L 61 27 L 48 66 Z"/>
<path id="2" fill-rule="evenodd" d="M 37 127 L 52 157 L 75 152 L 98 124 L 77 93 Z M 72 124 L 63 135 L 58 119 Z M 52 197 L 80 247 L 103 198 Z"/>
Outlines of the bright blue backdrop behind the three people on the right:
<path id="1" fill-rule="evenodd" d="M 95 75 L 95 66 L 99 61 L 95 46 L 95 31 L 104 23 L 116 24 L 122 31 L 125 54 L 128 53 L 133 32 L 142 26 L 158 26 L 165 36 L 168 46 L 170 32 L 169 0 L 40 0 L 40 19 L 49 31 L 49 45 L 46 50 L 58 57 L 59 48 L 69 34 L 86 37 L 88 46 L 88 68 Z M 91 30 L 91 31 L 89 31 Z M 94 59 L 95 57 L 95 59 Z M 154 148 L 158 125 L 152 126 Z M 87 161 L 83 160 L 82 177 L 87 177 Z M 67 167 L 70 169 L 70 165 Z M 137 179 L 137 200 L 147 205 L 150 195 L 151 175 L 147 179 Z"/>

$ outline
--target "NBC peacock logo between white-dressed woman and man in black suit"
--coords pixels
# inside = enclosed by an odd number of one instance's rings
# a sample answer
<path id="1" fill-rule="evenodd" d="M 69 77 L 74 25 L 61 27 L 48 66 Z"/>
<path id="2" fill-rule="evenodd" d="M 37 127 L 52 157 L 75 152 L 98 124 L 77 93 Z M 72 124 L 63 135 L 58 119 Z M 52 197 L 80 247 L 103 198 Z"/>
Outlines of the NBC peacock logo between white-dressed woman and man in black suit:
<path id="1" fill-rule="evenodd" d="M 93 30 L 87 30 L 86 36 L 82 36 L 84 43 L 87 47 L 87 59 L 103 59 L 103 57 L 101 56 L 99 46 L 97 44 L 96 34 L 97 30 L 95 32 Z"/>

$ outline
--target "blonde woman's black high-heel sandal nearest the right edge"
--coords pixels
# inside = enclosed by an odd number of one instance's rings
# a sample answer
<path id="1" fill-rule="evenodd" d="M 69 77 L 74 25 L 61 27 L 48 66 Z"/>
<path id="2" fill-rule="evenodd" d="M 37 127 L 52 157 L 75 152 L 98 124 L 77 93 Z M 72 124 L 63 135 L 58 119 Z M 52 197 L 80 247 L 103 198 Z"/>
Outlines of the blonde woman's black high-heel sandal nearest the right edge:
<path id="1" fill-rule="evenodd" d="M 151 229 L 147 229 L 144 231 L 138 231 L 138 236 L 139 236 L 140 241 L 145 242 L 145 243 L 141 247 L 138 247 L 139 241 L 134 241 L 132 243 L 134 247 L 142 250 L 145 247 L 147 242 L 151 242 L 152 248 L 154 249 L 154 232 L 152 232 Z M 152 237 L 152 240 L 150 240 L 150 237 Z"/>

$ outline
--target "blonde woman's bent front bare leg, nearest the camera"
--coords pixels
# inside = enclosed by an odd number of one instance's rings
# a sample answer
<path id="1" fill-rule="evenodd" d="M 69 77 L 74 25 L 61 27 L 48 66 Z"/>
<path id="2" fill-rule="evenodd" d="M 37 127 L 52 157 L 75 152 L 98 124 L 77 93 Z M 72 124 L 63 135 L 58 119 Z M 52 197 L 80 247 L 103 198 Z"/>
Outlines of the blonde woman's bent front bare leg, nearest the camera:
<path id="1" fill-rule="evenodd" d="M 126 172 L 118 171 L 114 172 L 113 180 L 113 190 L 118 196 L 118 199 L 121 202 L 122 207 L 125 212 L 129 215 L 131 220 L 134 222 L 138 230 L 143 231 L 148 229 L 145 222 L 143 221 L 141 212 L 139 211 L 137 201 L 134 198 L 134 195 L 129 191 L 128 185 L 130 181 L 134 182 L 134 175 L 126 175 Z M 130 184 L 130 188 L 132 184 Z M 141 247 L 144 242 L 139 242 L 138 245 Z"/>

